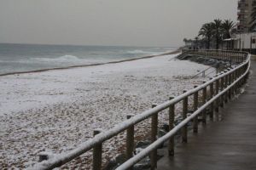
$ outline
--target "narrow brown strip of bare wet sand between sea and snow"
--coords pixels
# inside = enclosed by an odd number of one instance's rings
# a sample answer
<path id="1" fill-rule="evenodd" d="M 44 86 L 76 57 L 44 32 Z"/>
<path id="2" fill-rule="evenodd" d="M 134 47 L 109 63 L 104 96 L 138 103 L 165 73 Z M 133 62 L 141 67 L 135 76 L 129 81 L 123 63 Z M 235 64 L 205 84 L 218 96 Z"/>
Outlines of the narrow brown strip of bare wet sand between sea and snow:
<path id="1" fill-rule="evenodd" d="M 148 55 L 148 56 L 138 57 L 138 58 L 134 58 L 134 59 L 122 59 L 122 60 L 116 60 L 116 61 L 109 61 L 109 62 L 106 62 L 106 63 L 96 63 L 96 64 L 89 64 L 89 65 L 72 65 L 72 66 L 65 66 L 65 67 L 55 67 L 55 68 L 40 69 L 40 70 L 34 70 L 34 71 L 16 71 L 16 72 L 9 72 L 9 73 L 0 74 L 0 77 L 10 76 L 10 75 L 17 75 L 17 74 L 44 72 L 44 71 L 67 70 L 67 69 L 73 69 L 73 68 L 79 68 L 79 67 L 88 67 L 88 66 L 96 66 L 96 65 L 116 64 L 116 63 L 122 63 L 122 62 L 127 62 L 127 61 L 133 61 L 133 60 L 137 60 L 137 59 L 149 59 L 149 58 L 159 57 L 159 56 L 163 56 L 163 55 L 178 54 L 180 52 L 181 52 L 181 49 L 177 48 L 172 52 L 167 52 L 167 53 L 164 53 L 164 54 Z"/>

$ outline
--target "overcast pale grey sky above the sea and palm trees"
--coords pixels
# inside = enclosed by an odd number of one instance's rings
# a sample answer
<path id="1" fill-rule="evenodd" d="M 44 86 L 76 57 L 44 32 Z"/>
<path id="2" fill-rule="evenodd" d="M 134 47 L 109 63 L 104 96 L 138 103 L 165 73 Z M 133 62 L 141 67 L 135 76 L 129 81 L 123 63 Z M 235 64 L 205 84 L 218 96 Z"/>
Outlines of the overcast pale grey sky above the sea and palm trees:
<path id="1" fill-rule="evenodd" d="M 213 19 L 236 21 L 237 0 L 0 0 L 0 42 L 167 46 Z"/>

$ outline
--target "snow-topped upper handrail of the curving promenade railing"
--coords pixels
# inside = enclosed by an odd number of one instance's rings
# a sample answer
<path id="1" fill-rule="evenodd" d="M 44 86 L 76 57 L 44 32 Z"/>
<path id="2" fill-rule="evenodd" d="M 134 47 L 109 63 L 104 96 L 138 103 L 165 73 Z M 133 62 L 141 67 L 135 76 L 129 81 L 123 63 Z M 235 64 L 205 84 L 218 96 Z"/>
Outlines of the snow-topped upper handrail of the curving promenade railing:
<path id="1" fill-rule="evenodd" d="M 212 51 L 212 50 L 211 50 Z M 216 50 L 215 50 L 216 51 Z M 230 53 L 234 53 L 234 51 L 230 51 Z M 237 53 L 237 52 L 235 52 Z M 186 97 L 195 94 L 195 92 L 198 92 L 202 90 L 203 88 L 206 88 L 208 85 L 210 85 L 212 82 L 217 81 L 218 79 L 227 76 L 228 74 L 240 69 L 242 66 L 247 65 L 250 63 L 250 54 L 246 52 L 239 52 L 239 54 L 247 54 L 247 59 L 245 62 L 243 62 L 241 65 L 237 65 L 235 68 L 233 68 L 230 71 L 227 71 L 223 74 L 218 75 L 217 77 L 213 77 L 212 80 L 205 82 L 204 84 L 201 84 L 197 88 L 190 89 L 184 94 L 181 94 L 177 96 L 176 98 L 172 100 L 168 100 L 164 102 L 163 104 L 157 105 L 156 107 L 148 110 L 148 111 L 143 111 L 143 113 L 131 117 L 131 119 L 126 120 L 124 122 L 120 122 L 118 125 L 115 127 L 109 129 L 106 132 L 102 132 L 97 134 L 93 139 L 89 139 L 83 144 L 79 144 L 79 147 L 76 149 L 73 149 L 69 151 L 68 153 L 60 154 L 60 155 L 55 155 L 53 158 L 47 160 L 47 161 L 42 161 L 36 164 L 34 167 L 35 169 L 53 169 L 55 167 L 60 167 L 61 165 L 64 165 L 68 161 L 72 161 L 74 158 L 77 156 L 80 156 L 84 154 L 86 151 L 91 150 L 94 148 L 97 144 L 102 144 L 104 141 L 113 138 L 117 134 L 127 130 L 127 128 L 136 125 L 138 122 L 142 122 L 143 120 L 147 119 L 150 116 L 153 116 L 154 114 L 159 113 L 160 111 L 166 110 L 166 108 L 170 107 L 171 105 L 177 104 L 179 101 L 185 99 Z"/>

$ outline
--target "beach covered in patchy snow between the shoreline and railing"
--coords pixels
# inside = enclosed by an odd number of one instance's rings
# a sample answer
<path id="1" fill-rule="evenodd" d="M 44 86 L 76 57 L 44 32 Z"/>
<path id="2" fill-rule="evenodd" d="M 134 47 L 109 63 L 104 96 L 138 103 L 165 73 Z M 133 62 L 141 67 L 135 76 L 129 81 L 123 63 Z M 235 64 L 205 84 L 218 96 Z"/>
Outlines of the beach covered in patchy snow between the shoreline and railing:
<path id="1" fill-rule="evenodd" d="M 208 66 L 176 55 L 0 77 L 0 167 L 29 167 L 41 151 L 72 150 L 94 128 L 108 130 L 201 83 L 191 77 Z M 105 156 L 120 140 L 105 144 Z M 83 158 L 76 161 L 83 163 L 68 166 L 87 168 Z"/>

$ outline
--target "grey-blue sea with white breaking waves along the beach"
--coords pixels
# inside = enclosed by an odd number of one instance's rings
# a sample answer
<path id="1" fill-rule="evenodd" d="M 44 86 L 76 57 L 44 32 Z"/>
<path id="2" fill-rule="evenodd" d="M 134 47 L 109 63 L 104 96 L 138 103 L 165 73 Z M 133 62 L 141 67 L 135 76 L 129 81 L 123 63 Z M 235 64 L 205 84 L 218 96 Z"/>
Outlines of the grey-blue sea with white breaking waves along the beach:
<path id="1" fill-rule="evenodd" d="M 163 54 L 174 49 L 176 48 L 0 43 L 0 75 L 133 59 Z"/>

